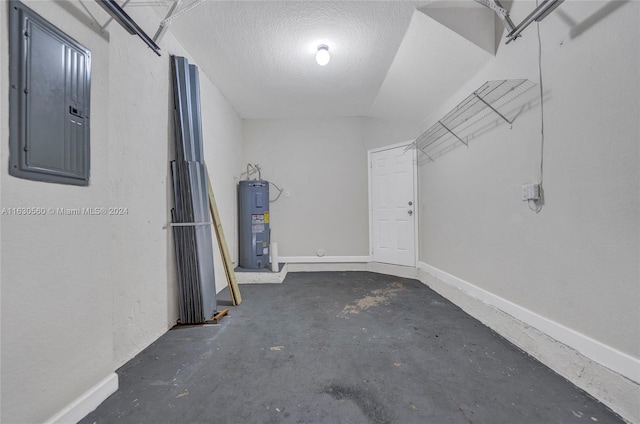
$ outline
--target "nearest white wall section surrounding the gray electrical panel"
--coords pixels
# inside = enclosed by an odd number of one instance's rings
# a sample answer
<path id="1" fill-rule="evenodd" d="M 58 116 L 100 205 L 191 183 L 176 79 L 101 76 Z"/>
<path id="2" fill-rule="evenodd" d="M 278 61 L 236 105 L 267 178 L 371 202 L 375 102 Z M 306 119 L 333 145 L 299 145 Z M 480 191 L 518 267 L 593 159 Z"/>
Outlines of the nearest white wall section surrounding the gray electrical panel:
<path id="1" fill-rule="evenodd" d="M 109 203 L 109 45 L 53 2 L 30 2 L 92 51 L 89 187 L 8 174 L 8 4 L 0 4 L 2 207 Z M 113 371 L 111 222 L 96 216 L 3 215 L 2 422 L 43 422 Z"/>

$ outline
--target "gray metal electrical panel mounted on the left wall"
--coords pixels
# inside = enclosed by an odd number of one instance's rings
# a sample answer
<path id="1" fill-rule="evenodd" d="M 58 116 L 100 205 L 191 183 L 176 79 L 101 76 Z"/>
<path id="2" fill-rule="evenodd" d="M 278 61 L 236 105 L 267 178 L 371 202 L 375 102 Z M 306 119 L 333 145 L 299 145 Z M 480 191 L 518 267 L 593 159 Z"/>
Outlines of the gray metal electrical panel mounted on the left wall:
<path id="1" fill-rule="evenodd" d="M 9 2 L 9 173 L 89 184 L 91 52 Z"/>

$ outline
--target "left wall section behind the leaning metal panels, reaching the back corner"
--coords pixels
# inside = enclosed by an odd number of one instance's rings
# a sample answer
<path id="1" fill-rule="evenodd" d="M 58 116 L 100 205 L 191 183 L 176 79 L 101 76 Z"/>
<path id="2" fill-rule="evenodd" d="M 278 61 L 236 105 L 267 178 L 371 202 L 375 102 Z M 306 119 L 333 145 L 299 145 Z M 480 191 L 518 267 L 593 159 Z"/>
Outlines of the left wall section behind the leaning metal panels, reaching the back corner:
<path id="1" fill-rule="evenodd" d="M 158 19 L 150 9 L 131 9 L 129 13 L 153 33 Z M 114 349 L 121 365 L 177 319 L 172 232 L 162 227 L 171 219 L 167 205 L 173 201 L 169 168 L 169 158 L 174 155 L 170 56 L 189 54 L 170 33 L 162 39 L 162 57 L 158 58 L 119 27 L 110 29 L 110 109 L 114 123 L 110 169 L 126 177 L 114 178 L 111 194 L 113 202 L 131 211 L 126 217 L 114 218 L 117 225 L 112 230 L 111 254 L 119 265 L 113 267 Z M 136 41 L 133 48 L 124 48 L 131 41 Z M 190 63 L 195 62 L 190 59 Z M 232 249 L 236 243 L 232 182 L 237 168 L 234 165 L 242 152 L 241 120 L 202 71 L 200 85 L 205 158 Z M 145 246 L 143 251 L 141 245 Z M 226 279 L 217 245 L 214 251 L 219 291 L 226 287 Z"/>

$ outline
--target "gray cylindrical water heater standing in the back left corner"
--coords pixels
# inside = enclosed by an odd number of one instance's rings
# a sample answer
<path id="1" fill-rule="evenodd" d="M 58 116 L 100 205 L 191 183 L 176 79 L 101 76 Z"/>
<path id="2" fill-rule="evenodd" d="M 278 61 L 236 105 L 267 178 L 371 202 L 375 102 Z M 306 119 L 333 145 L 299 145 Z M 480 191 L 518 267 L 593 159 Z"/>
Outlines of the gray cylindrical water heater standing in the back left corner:
<path id="1" fill-rule="evenodd" d="M 238 187 L 240 266 L 269 267 L 269 183 L 240 181 Z"/>

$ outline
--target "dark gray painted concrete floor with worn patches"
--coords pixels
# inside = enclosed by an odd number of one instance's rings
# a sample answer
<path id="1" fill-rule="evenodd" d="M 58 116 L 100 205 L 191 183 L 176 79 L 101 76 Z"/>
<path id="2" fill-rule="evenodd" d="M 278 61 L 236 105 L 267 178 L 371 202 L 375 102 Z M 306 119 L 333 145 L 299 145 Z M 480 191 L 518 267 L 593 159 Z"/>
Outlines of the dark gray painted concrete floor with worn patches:
<path id="1" fill-rule="evenodd" d="M 91 423 L 623 423 L 419 281 L 290 273 L 118 370 Z M 221 300 L 223 299 L 223 300 Z M 226 301 L 224 300 L 226 299 Z"/>

